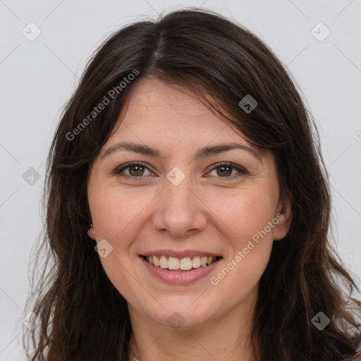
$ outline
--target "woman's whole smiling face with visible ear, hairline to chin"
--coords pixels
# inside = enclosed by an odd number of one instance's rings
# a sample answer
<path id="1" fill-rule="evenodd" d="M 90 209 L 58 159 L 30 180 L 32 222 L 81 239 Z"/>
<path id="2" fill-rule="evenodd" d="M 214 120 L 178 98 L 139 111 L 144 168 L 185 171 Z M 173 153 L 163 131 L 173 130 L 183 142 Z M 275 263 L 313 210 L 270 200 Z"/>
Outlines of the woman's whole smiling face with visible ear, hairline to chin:
<path id="1" fill-rule="evenodd" d="M 133 87 L 87 189 L 88 234 L 130 312 L 196 326 L 257 300 L 291 216 L 273 154 L 250 149 L 185 91 L 154 79 Z"/>

